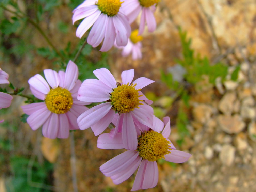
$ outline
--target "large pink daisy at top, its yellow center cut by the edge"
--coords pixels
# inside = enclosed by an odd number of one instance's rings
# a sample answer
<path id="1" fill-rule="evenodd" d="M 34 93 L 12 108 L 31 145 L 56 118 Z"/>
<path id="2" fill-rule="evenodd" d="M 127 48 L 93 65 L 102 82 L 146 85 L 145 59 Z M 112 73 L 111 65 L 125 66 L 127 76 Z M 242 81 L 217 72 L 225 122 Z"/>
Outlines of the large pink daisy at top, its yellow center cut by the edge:
<path id="1" fill-rule="evenodd" d="M 97 47 L 104 39 L 100 51 L 108 51 L 116 41 L 125 46 L 131 34 L 128 18 L 119 11 L 120 0 L 86 0 L 73 11 L 73 24 L 82 18 L 76 36 L 81 38 L 92 26 L 87 43 Z"/>

